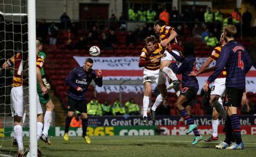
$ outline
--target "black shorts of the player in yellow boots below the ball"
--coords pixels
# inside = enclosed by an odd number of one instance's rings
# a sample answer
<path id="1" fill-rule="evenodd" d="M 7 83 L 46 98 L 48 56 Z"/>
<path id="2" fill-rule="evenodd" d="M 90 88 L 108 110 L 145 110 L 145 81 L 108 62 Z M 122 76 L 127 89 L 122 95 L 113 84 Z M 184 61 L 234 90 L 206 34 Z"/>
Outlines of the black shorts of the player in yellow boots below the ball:
<path id="1" fill-rule="evenodd" d="M 87 113 L 86 100 L 76 100 L 67 95 L 67 111 L 79 111 L 80 113 Z"/>

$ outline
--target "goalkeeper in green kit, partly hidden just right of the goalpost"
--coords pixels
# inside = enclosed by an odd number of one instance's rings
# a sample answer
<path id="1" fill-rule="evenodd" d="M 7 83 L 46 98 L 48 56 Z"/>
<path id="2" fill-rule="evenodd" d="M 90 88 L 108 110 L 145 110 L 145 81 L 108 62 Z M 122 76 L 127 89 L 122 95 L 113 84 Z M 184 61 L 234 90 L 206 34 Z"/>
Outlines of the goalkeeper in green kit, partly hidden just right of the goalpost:
<path id="1" fill-rule="evenodd" d="M 43 49 L 43 39 L 37 38 L 36 41 L 38 41 L 38 43 L 41 45 L 40 52 L 38 53 L 38 57 L 45 60 L 46 59 L 45 52 L 41 51 Z M 49 91 L 51 86 L 45 78 L 44 68 L 41 68 L 40 72 L 41 72 L 43 84 L 45 85 L 46 89 L 48 89 L 48 91 Z M 36 89 L 37 89 L 40 103 L 45 105 L 45 107 L 46 107 L 46 112 L 45 112 L 45 117 L 44 117 L 44 125 L 43 125 L 43 134 L 41 135 L 40 139 L 43 140 L 43 142 L 51 145 L 51 142 L 48 138 L 48 131 L 49 131 L 49 127 L 51 125 L 51 121 L 53 120 L 54 104 L 53 104 L 53 101 L 51 100 L 49 93 L 43 94 L 43 91 L 41 90 L 39 83 L 36 84 Z"/>

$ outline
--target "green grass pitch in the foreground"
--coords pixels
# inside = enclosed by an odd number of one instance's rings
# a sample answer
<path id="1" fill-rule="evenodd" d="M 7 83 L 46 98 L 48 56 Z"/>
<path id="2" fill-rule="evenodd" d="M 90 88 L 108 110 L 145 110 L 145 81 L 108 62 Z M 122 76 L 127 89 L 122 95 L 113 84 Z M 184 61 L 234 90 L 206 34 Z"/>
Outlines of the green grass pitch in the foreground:
<path id="1" fill-rule="evenodd" d="M 205 136 L 208 137 L 208 136 Z M 204 138 L 205 138 L 204 137 Z M 217 150 L 215 145 L 218 142 L 200 141 L 196 146 L 192 146 L 193 137 L 191 135 L 155 135 L 155 136 L 105 136 L 90 137 L 92 144 L 88 145 L 82 137 L 69 137 L 66 142 L 62 137 L 51 137 L 52 145 L 39 142 L 43 156 L 200 156 L 200 157 L 224 157 L 224 156 L 256 156 L 256 136 L 243 135 L 245 150 Z M 220 135 L 220 140 L 224 140 L 224 135 Z M 11 140 L 4 142 L 10 145 Z M 2 147 L 4 146 L 2 145 Z M 28 143 L 25 143 L 25 147 Z M 1 149 L 1 153 L 8 153 L 10 148 Z M 17 151 L 12 148 L 11 154 Z M 1 155 L 0 155 L 1 156 Z"/>

